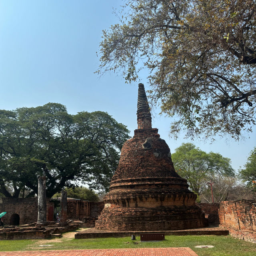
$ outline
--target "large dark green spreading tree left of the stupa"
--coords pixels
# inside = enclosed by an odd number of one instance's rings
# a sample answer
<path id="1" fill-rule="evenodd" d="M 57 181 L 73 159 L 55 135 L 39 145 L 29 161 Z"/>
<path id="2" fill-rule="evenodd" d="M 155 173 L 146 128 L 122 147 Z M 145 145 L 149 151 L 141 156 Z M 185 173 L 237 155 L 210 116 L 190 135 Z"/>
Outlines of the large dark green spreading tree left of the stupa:
<path id="1" fill-rule="evenodd" d="M 106 190 L 128 132 L 106 112 L 71 115 L 57 103 L 0 110 L 0 192 L 18 197 L 26 187 L 34 195 L 38 176 L 49 197 L 71 182 Z"/>

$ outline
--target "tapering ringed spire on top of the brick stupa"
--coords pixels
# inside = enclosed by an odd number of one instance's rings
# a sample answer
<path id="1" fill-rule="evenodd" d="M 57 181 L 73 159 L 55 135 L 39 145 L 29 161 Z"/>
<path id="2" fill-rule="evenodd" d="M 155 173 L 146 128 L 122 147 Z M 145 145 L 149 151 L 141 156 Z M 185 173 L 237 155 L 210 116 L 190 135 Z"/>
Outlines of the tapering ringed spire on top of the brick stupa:
<path id="1" fill-rule="evenodd" d="M 151 114 L 144 84 L 139 84 L 137 104 L 138 129 L 152 129 Z"/>

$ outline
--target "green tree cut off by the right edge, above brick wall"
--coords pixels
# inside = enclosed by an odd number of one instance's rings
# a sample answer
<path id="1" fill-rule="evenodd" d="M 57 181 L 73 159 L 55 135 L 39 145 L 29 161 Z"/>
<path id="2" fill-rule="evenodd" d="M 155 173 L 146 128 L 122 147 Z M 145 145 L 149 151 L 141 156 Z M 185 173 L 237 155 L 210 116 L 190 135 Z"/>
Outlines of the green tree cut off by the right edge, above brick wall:
<path id="1" fill-rule="evenodd" d="M 256 147 L 250 152 L 244 169 L 239 170 L 240 178 L 256 192 Z"/>

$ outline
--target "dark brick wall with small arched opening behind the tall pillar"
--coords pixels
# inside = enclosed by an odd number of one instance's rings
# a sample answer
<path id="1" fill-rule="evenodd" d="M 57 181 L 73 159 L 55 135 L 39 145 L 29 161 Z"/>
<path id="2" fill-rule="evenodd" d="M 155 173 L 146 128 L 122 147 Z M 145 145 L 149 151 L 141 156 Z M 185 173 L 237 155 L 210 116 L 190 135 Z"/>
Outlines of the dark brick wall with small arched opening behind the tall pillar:
<path id="1" fill-rule="evenodd" d="M 0 204 L 0 212 L 6 212 L 4 224 L 10 225 L 11 218 L 18 214 L 20 225 L 37 222 L 38 215 L 37 198 L 3 198 Z M 46 200 L 46 220 L 52 221 L 54 214 L 54 203 Z M 17 216 L 17 215 L 16 215 Z"/>

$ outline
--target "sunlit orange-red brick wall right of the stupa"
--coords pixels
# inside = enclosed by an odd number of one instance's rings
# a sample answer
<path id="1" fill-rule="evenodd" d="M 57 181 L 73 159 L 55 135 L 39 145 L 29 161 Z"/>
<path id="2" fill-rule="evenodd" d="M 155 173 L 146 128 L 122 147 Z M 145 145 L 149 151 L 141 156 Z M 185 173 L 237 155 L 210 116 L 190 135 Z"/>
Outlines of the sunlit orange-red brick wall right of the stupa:
<path id="1" fill-rule="evenodd" d="M 223 201 L 198 206 L 208 215 L 209 223 L 227 228 L 230 235 L 236 238 L 256 243 L 256 200 Z"/>

